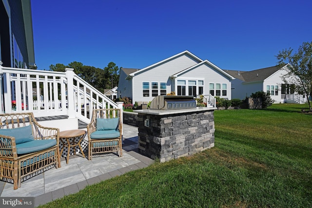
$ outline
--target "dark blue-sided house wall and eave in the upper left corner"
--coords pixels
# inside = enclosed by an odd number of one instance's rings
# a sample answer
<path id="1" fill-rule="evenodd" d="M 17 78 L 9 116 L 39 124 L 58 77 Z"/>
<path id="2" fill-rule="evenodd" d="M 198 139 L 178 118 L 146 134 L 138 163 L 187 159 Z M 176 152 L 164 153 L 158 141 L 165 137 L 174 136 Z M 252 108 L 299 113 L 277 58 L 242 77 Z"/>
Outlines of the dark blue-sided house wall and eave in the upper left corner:
<path id="1" fill-rule="evenodd" d="M 2 66 L 35 67 L 30 0 L 0 0 L 0 19 Z"/>

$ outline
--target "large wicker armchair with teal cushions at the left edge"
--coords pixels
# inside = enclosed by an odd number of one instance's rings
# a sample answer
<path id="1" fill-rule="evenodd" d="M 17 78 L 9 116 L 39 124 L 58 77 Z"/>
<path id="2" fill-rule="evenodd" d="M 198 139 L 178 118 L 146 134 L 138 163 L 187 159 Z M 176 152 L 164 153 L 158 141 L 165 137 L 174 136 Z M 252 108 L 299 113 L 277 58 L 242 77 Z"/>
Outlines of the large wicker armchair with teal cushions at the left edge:
<path id="1" fill-rule="evenodd" d="M 60 168 L 59 129 L 42 127 L 33 113 L 0 114 L 0 179 L 21 179 L 55 165 Z"/>

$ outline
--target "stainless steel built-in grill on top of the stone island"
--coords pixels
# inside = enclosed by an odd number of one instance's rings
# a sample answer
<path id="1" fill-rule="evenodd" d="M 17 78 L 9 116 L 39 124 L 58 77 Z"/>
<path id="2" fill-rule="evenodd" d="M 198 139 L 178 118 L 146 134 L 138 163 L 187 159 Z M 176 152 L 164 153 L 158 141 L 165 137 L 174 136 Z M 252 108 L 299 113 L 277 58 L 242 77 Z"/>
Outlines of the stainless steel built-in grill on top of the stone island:
<path id="1" fill-rule="evenodd" d="M 178 110 L 196 108 L 196 101 L 193 96 L 181 95 L 158 95 L 152 102 L 150 109 L 153 110 Z"/>

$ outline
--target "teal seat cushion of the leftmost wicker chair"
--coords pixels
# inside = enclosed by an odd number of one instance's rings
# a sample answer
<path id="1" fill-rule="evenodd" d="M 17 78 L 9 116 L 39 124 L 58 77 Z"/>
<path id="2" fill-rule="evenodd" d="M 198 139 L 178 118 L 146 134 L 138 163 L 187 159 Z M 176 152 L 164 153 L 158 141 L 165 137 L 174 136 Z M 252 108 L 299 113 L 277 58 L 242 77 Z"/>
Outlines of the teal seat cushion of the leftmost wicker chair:
<path id="1" fill-rule="evenodd" d="M 16 145 L 16 151 L 18 154 L 27 154 L 45 150 L 55 145 L 57 145 L 56 139 L 33 140 Z"/>

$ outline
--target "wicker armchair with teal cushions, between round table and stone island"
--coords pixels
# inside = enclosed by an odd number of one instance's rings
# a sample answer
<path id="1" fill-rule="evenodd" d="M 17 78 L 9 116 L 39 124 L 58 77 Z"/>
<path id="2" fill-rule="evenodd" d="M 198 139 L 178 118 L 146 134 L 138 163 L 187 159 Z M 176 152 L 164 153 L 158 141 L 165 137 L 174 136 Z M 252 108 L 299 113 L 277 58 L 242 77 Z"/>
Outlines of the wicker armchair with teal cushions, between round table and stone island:
<path id="1" fill-rule="evenodd" d="M 94 109 L 87 131 L 88 160 L 95 153 L 119 152 L 119 157 L 122 156 L 120 109 Z"/>

